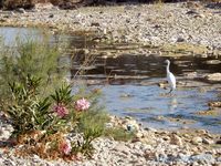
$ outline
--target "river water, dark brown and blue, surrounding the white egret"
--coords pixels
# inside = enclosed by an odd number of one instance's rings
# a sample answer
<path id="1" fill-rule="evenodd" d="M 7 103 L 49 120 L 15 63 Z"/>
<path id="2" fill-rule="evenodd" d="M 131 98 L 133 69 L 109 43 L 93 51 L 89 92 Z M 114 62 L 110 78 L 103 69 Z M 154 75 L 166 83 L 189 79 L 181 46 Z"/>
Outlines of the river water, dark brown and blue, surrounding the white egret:
<path id="1" fill-rule="evenodd" d="M 0 28 L 0 34 L 4 34 L 9 43 L 12 42 L 11 37 L 18 32 L 30 34 L 29 29 Z M 30 37 L 39 35 L 34 32 Z M 76 35 L 65 35 L 63 40 L 71 43 L 71 49 L 92 45 L 87 45 L 84 38 Z M 169 90 L 158 85 L 165 82 L 166 59 L 168 58 L 138 53 L 105 59 L 98 56 L 81 77 L 87 80 L 91 89 L 102 90 L 104 96 L 101 103 L 112 114 L 133 116 L 143 125 L 157 128 L 194 127 L 221 133 L 220 110 L 215 115 L 198 114 L 199 111 L 209 108 L 208 102 L 220 100 L 220 83 L 211 84 L 201 77 L 206 73 L 221 72 L 221 58 L 169 58 L 170 70 L 178 81 L 178 89 L 172 95 L 167 94 Z M 211 64 L 211 60 L 218 63 Z M 71 77 L 74 77 L 82 61 L 73 59 L 72 64 Z M 189 73 L 193 73 L 193 76 L 188 76 Z"/>

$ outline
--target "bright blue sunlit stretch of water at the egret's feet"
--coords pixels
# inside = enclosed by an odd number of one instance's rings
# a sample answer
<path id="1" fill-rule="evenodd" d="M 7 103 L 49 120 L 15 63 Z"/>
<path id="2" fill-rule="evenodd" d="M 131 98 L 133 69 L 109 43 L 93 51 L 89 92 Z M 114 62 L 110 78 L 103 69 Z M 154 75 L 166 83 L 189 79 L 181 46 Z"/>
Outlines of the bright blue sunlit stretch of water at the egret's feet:
<path id="1" fill-rule="evenodd" d="M 160 79 L 152 79 L 159 82 Z M 96 86 L 93 86 L 96 87 Z M 175 95 L 167 95 L 166 90 L 157 84 L 108 85 L 102 89 L 102 103 L 108 111 L 118 116 L 133 116 L 144 125 L 157 128 L 203 127 L 217 132 L 221 116 L 210 117 L 197 115 L 200 110 L 208 110 L 207 102 L 217 98 L 215 92 L 198 94 L 197 90 L 177 90 Z M 166 95 L 161 95 L 161 94 Z"/>

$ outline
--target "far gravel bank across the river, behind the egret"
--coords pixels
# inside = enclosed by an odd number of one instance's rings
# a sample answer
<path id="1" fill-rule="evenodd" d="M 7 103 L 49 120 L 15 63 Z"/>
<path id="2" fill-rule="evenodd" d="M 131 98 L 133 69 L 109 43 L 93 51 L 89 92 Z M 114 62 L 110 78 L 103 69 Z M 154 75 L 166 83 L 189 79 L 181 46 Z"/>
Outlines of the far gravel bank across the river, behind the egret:
<path id="1" fill-rule="evenodd" d="M 220 8 L 200 2 L 87 7 L 76 10 L 39 4 L 32 10 L 0 11 L 0 25 L 36 25 L 53 31 L 93 32 L 97 41 L 151 45 L 189 43 L 203 45 L 208 50 L 221 49 Z"/>

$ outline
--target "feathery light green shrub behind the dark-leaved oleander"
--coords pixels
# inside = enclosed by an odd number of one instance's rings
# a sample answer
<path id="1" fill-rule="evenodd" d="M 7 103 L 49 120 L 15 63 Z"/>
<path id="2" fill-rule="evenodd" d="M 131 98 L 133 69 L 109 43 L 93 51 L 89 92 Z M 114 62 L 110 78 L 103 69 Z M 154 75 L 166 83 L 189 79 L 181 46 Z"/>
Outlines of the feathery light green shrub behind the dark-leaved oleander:
<path id="1" fill-rule="evenodd" d="M 48 95 L 60 87 L 65 74 L 57 61 L 62 54 L 59 46 L 41 41 L 17 40 L 13 48 L 0 46 L 0 101 L 9 98 L 9 82 L 25 82 L 27 75 L 41 77 L 40 95 Z M 13 44 L 13 43 L 12 43 Z"/>

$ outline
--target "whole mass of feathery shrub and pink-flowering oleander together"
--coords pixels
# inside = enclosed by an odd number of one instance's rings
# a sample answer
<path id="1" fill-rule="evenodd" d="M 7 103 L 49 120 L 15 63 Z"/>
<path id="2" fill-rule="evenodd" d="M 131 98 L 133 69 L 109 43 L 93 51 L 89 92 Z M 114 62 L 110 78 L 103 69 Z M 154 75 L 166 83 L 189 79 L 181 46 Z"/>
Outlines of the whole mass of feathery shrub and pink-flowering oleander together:
<path id="1" fill-rule="evenodd" d="M 63 81 L 59 50 L 48 40 L 18 40 L 15 46 L 1 41 L 0 110 L 14 128 L 11 139 L 24 145 L 18 155 L 90 157 L 92 141 L 105 129 L 108 117 L 97 104 L 99 91 L 82 87 L 74 93 Z"/>

